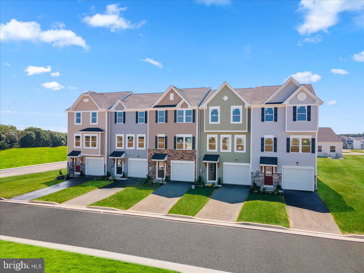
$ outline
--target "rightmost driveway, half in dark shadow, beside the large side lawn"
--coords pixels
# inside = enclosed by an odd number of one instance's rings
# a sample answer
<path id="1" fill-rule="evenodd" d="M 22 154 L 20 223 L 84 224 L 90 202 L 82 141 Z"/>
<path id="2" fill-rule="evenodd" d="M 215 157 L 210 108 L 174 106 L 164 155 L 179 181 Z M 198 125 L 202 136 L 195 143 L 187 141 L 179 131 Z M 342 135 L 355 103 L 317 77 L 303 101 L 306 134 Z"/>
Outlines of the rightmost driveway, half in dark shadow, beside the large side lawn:
<path id="1" fill-rule="evenodd" d="M 334 218 L 312 191 L 284 190 L 290 227 L 326 233 L 341 233 Z"/>

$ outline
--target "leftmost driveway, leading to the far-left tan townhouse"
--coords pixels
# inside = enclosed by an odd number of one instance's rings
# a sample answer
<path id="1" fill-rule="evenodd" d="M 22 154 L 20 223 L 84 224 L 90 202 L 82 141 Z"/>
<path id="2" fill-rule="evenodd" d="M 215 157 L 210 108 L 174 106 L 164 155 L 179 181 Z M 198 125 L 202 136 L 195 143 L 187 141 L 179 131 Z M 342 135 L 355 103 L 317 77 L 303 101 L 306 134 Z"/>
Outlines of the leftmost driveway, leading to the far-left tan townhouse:
<path id="1" fill-rule="evenodd" d="M 92 180 L 92 179 L 94 179 L 94 177 L 89 176 L 89 175 L 78 176 L 78 177 L 66 180 L 64 182 L 55 184 L 53 186 L 49 186 L 49 187 L 39 189 L 39 190 L 34 190 L 34 191 L 29 192 L 29 193 L 20 194 L 20 195 L 11 197 L 9 199 L 22 200 L 22 201 L 31 201 L 33 199 L 42 197 L 44 195 L 55 193 L 56 191 L 67 189 L 69 187 L 79 185 L 79 184 L 81 184 L 83 182 L 86 182 L 86 181 L 89 181 L 89 180 Z"/>

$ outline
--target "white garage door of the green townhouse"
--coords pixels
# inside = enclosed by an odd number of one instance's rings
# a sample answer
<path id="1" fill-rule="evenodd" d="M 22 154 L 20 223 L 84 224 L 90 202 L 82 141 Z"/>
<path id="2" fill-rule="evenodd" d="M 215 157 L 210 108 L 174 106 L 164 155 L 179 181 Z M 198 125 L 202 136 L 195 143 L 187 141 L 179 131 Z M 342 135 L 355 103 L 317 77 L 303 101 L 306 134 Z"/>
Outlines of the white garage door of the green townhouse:
<path id="1" fill-rule="evenodd" d="M 250 185 L 250 166 L 224 163 L 224 184 Z"/>

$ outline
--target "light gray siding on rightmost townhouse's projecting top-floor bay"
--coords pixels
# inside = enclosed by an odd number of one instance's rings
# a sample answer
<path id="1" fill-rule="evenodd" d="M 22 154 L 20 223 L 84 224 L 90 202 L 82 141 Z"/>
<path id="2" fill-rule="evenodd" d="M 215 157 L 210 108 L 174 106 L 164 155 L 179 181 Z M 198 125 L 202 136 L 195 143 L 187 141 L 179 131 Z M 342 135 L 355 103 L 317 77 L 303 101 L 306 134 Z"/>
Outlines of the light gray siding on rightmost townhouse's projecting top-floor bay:
<path id="1" fill-rule="evenodd" d="M 311 105 L 311 121 L 293 121 L 293 106 L 287 106 L 287 131 L 317 131 L 317 111 L 318 106 Z"/>

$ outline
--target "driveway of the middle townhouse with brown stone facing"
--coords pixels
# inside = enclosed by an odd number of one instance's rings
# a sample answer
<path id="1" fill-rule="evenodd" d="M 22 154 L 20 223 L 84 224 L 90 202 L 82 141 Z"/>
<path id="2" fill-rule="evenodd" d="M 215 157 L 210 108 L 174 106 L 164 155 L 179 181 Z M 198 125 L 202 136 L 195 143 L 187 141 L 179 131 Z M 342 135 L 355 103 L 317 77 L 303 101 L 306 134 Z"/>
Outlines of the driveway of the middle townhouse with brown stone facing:
<path id="1" fill-rule="evenodd" d="M 129 210 L 167 214 L 190 187 L 190 182 L 170 181 L 132 206 Z"/>

